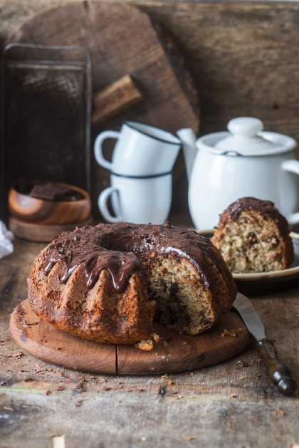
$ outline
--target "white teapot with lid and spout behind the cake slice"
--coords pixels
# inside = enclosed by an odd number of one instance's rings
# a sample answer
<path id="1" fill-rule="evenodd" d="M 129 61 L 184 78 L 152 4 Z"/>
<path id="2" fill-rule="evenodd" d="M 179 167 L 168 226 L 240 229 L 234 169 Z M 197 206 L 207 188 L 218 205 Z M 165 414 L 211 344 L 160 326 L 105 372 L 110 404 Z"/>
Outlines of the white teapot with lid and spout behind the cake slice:
<path id="1" fill-rule="evenodd" d="M 248 196 L 271 200 L 289 224 L 298 224 L 295 140 L 263 131 L 257 118 L 234 118 L 228 129 L 198 140 L 190 129 L 177 132 L 183 142 L 189 210 L 196 228 L 212 229 L 229 204 Z"/>

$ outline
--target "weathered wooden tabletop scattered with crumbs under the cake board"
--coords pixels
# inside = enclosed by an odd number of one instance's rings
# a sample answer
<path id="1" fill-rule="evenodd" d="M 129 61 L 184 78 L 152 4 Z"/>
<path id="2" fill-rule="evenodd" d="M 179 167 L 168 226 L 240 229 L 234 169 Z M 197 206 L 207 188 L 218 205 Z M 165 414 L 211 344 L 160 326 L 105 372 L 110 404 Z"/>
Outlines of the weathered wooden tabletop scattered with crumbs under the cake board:
<path id="1" fill-rule="evenodd" d="M 0 447 L 299 447 L 299 392 L 280 395 L 253 346 L 209 368 L 152 376 L 80 373 L 21 350 L 9 318 L 44 244 L 14 246 L 0 260 Z M 299 287 L 252 302 L 299 383 Z"/>

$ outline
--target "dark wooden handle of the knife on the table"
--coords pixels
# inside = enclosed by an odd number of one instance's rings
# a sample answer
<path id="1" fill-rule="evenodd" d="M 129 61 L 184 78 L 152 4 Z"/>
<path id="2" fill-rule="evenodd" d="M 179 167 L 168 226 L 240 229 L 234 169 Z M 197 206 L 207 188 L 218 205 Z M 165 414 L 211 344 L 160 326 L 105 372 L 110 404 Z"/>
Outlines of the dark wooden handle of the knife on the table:
<path id="1" fill-rule="evenodd" d="M 278 353 L 271 340 L 258 340 L 258 351 L 268 365 L 271 380 L 283 395 L 292 395 L 297 387 L 290 370 L 278 358 Z"/>

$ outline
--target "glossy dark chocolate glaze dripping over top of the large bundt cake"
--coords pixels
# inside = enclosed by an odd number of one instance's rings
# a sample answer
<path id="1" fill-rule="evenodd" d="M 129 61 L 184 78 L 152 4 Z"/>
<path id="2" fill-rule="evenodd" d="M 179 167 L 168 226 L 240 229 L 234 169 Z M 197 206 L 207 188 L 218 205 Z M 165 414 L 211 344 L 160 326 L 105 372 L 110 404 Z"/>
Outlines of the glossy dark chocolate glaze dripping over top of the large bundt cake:
<path id="1" fill-rule="evenodd" d="M 83 265 L 88 288 L 92 288 L 101 271 L 107 269 L 113 286 L 124 291 L 130 276 L 141 270 L 138 254 L 177 255 L 187 259 L 201 272 L 204 286 L 211 288 L 209 271 L 211 260 L 221 272 L 223 260 L 211 242 L 196 231 L 152 224 L 98 224 L 85 226 L 73 232 L 63 232 L 46 251 L 43 271 L 47 276 L 53 266 L 61 262 L 61 282 L 66 283 L 77 266 Z"/>

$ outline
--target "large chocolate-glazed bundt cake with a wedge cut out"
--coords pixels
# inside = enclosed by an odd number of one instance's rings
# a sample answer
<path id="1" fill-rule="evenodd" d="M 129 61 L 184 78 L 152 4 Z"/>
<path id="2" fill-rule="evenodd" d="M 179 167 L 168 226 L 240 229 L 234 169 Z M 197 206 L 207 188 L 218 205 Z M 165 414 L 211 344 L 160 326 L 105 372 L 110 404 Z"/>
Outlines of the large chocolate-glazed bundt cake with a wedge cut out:
<path id="1" fill-rule="evenodd" d="M 218 249 L 168 222 L 63 232 L 36 258 L 28 278 L 28 301 L 38 316 L 103 343 L 148 338 L 153 319 L 196 335 L 229 311 L 235 297 Z"/>

